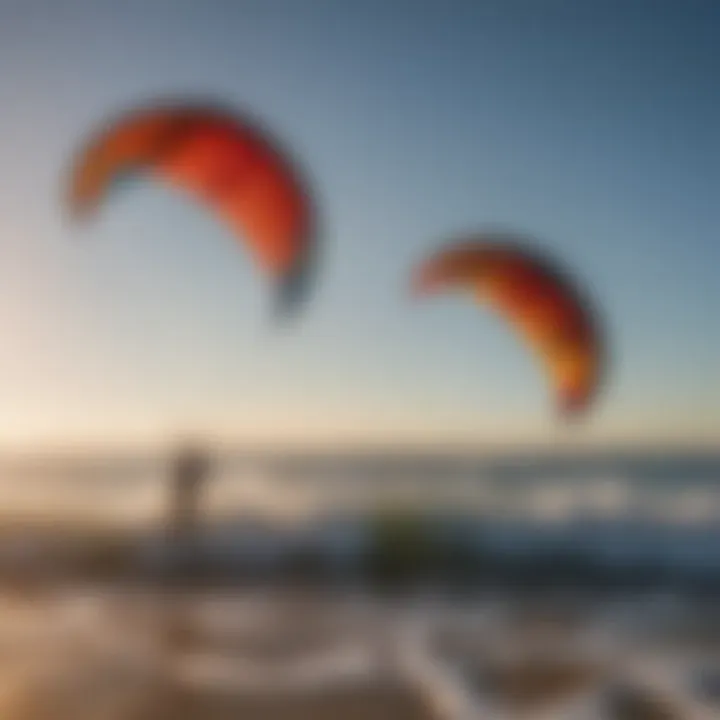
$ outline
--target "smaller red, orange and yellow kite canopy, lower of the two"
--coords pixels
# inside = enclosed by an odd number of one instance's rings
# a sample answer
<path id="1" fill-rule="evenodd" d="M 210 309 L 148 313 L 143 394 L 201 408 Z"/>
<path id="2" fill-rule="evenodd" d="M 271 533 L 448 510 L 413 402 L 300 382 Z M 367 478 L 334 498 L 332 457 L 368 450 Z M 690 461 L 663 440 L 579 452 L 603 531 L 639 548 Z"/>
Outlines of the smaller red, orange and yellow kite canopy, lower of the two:
<path id="1" fill-rule="evenodd" d="M 421 263 L 412 285 L 417 295 L 470 290 L 534 351 L 564 416 L 590 407 L 603 354 L 595 314 L 576 284 L 529 244 L 502 234 L 460 240 Z"/>

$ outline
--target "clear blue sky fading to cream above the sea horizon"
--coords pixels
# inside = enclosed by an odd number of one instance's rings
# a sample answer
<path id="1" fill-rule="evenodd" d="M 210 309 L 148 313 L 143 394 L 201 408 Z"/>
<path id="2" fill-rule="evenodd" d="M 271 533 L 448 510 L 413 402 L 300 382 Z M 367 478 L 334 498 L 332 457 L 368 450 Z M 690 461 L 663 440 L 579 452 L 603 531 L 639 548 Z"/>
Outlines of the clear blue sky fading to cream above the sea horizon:
<path id="1" fill-rule="evenodd" d="M 0 443 L 720 439 L 719 26 L 717 0 L 0 0 Z M 311 174 L 292 328 L 179 194 L 66 222 L 85 133 L 181 93 L 250 109 Z M 492 313 L 407 298 L 425 252 L 497 225 L 604 313 L 571 435 Z"/>

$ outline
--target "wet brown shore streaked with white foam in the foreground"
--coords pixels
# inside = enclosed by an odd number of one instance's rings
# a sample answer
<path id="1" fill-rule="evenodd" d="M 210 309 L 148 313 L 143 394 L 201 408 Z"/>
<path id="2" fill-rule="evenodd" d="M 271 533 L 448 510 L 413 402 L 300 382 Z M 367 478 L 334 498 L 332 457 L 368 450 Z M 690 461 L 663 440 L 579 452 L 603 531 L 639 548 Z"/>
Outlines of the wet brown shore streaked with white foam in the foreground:
<path id="1" fill-rule="evenodd" d="M 657 603 L 623 617 L 619 605 L 533 614 L 497 600 L 459 607 L 269 591 L 172 607 L 149 592 L 8 597 L 0 712 L 8 720 L 717 717 L 717 697 L 691 679 L 695 668 L 718 667 L 720 653 L 693 641 L 688 622 L 681 650 L 679 624 L 667 609 L 658 623 L 661 614 Z M 174 623 L 187 631 L 179 644 L 168 641 Z"/>

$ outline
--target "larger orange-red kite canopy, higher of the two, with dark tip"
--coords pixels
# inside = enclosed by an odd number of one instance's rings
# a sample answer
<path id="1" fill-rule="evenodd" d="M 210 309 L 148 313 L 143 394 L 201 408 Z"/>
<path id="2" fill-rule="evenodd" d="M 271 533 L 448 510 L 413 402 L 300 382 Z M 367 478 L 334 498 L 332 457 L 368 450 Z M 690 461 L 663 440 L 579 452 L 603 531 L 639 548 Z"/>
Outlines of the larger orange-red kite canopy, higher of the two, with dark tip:
<path id="1" fill-rule="evenodd" d="M 315 239 L 312 203 L 287 154 L 254 123 L 205 104 L 131 111 L 81 150 L 69 182 L 71 213 L 91 215 L 119 181 L 140 174 L 205 201 L 278 282 L 283 307 L 302 297 Z"/>

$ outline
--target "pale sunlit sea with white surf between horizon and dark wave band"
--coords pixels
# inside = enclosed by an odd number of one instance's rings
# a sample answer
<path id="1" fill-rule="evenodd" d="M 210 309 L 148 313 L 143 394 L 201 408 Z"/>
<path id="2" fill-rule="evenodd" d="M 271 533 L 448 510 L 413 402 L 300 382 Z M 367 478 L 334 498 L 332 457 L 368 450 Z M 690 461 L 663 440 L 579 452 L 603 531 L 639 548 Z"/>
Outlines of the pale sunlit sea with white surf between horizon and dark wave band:
<path id="1" fill-rule="evenodd" d="M 148 529 L 168 499 L 162 458 L 0 465 L 0 517 Z M 351 555 L 378 509 L 414 508 L 509 551 L 573 549 L 614 563 L 720 572 L 720 452 L 219 456 L 202 498 L 225 552 L 311 542 Z"/>

